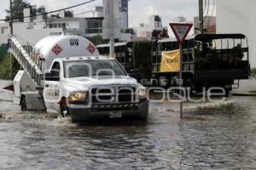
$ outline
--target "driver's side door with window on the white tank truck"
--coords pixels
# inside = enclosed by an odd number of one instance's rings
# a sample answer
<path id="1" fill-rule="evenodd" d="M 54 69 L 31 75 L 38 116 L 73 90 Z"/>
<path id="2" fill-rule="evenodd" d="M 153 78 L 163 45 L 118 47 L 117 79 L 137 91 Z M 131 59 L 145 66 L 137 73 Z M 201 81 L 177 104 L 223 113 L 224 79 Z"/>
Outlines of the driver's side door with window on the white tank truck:
<path id="1" fill-rule="evenodd" d="M 51 77 L 55 77 L 55 79 L 44 82 L 44 101 L 47 111 L 58 113 L 61 101 L 61 63 L 55 61 L 49 71 Z"/>

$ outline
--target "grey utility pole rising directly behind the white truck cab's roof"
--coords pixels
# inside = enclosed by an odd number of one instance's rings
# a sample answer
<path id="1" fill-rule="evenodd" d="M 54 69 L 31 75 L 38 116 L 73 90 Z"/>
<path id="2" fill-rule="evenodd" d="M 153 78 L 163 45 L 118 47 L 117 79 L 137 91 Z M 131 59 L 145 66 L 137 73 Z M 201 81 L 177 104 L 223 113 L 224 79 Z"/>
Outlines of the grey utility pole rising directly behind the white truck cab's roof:
<path id="1" fill-rule="evenodd" d="M 113 1 L 109 0 L 109 55 L 114 58 L 114 14 L 113 14 Z"/>

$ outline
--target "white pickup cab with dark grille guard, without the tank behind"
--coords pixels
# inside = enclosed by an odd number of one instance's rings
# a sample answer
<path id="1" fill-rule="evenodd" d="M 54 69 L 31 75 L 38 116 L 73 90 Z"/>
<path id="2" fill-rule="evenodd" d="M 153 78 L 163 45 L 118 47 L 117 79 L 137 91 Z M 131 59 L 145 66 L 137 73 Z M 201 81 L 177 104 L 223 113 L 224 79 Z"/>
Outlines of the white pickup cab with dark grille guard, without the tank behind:
<path id="1" fill-rule="evenodd" d="M 146 88 L 115 59 L 102 56 L 54 59 L 44 77 L 47 111 L 91 118 L 148 117 Z"/>

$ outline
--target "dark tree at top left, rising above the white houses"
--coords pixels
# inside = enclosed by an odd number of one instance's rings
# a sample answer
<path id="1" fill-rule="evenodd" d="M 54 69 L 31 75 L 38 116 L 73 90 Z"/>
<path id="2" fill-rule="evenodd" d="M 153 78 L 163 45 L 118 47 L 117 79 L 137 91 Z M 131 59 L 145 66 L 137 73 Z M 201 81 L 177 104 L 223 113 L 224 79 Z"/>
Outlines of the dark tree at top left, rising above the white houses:
<path id="1" fill-rule="evenodd" d="M 23 22 L 23 9 L 24 8 L 31 8 L 32 6 L 30 3 L 27 3 L 25 0 L 13 0 L 13 18 L 17 19 L 14 21 Z M 5 12 L 7 13 L 6 20 L 10 20 L 10 9 L 6 9 Z"/>

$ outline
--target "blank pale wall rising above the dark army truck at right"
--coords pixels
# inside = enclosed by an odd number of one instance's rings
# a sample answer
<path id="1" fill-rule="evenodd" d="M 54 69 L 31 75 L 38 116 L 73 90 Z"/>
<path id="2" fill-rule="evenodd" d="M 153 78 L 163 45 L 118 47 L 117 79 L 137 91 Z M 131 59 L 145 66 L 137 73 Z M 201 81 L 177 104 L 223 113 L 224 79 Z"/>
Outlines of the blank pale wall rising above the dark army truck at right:
<path id="1" fill-rule="evenodd" d="M 247 36 L 252 67 L 256 67 L 256 1 L 218 0 L 217 33 L 243 33 Z"/>

